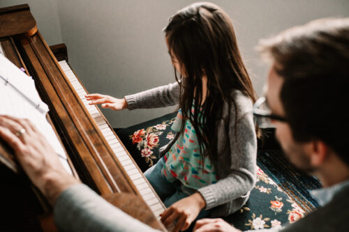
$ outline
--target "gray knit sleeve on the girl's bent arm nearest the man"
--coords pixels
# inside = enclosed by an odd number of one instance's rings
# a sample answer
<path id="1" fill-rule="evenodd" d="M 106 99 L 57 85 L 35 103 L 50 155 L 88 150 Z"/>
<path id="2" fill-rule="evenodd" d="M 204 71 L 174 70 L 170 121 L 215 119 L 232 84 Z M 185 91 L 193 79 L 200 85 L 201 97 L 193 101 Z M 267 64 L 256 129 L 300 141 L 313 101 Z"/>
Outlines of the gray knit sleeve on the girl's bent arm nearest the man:
<path id="1" fill-rule="evenodd" d="M 218 158 L 217 169 L 223 169 L 226 176 L 217 183 L 198 190 L 206 201 L 205 209 L 214 208 L 240 196 L 245 196 L 255 185 L 257 139 L 251 112 L 252 102 L 246 97 L 235 98 L 235 100 L 238 109 L 236 127 L 235 107 L 230 108 L 228 123 L 230 157 L 223 156 L 225 159 L 230 159 L 230 162 Z M 218 146 L 220 146 L 219 139 Z"/>

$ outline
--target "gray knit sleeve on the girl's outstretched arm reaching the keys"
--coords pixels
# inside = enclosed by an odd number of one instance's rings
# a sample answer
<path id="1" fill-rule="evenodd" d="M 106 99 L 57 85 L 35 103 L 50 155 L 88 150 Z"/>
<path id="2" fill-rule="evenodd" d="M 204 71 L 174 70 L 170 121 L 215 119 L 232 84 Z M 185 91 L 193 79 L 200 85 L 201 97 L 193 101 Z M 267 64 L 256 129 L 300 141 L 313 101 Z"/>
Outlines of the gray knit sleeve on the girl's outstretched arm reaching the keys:
<path id="1" fill-rule="evenodd" d="M 178 82 L 151 88 L 147 91 L 126 95 L 128 109 L 149 109 L 177 105 L 179 102 L 180 86 Z"/>

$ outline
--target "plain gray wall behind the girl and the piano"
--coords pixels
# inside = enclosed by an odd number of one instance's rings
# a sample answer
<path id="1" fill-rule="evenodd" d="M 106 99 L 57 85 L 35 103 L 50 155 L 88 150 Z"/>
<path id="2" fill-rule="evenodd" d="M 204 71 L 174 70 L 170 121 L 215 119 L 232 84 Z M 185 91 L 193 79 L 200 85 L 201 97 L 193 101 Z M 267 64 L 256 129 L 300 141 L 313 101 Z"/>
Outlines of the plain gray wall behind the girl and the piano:
<path id="1" fill-rule="evenodd" d="M 162 29 L 168 17 L 194 1 L 1 0 L 0 7 L 19 2 L 29 2 L 50 45 L 66 43 L 70 65 L 90 93 L 123 98 L 174 82 Z M 267 73 L 267 66 L 253 49 L 259 38 L 320 17 L 349 16 L 348 0 L 212 2 L 230 15 L 258 94 L 262 93 Z M 103 114 L 113 127 L 126 127 L 173 109 L 119 112 L 103 109 Z"/>

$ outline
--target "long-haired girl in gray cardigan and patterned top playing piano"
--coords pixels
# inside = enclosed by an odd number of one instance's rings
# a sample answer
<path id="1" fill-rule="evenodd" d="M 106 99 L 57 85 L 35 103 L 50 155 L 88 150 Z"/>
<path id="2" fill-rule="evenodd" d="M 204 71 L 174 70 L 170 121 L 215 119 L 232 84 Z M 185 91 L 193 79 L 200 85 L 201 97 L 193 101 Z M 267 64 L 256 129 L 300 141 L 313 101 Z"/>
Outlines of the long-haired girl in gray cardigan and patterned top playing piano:
<path id="1" fill-rule="evenodd" d="M 114 110 L 179 105 L 177 134 L 144 175 L 168 207 L 165 226 L 188 229 L 197 218 L 229 215 L 255 184 L 255 95 L 232 23 L 212 3 L 194 3 L 170 18 L 165 31 L 177 82 L 124 99 L 90 94 L 90 105 Z"/>

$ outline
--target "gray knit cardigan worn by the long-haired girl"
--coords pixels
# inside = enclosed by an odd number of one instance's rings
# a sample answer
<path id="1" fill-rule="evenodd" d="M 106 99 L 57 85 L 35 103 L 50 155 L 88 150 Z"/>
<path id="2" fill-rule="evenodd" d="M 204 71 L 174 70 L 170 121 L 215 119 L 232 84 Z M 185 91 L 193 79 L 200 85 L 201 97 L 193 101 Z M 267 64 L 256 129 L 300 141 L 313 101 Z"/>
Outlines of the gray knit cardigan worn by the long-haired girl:
<path id="1" fill-rule="evenodd" d="M 127 95 L 128 109 L 168 107 L 179 102 L 180 86 L 177 82 L 152 88 L 148 91 Z M 206 201 L 205 209 L 211 208 L 211 217 L 223 217 L 236 212 L 246 203 L 255 185 L 257 139 L 253 123 L 252 102 L 241 91 L 232 91 L 237 107 L 223 104 L 223 118 L 218 121 L 219 180 L 198 190 Z M 236 131 L 235 131 L 235 124 Z M 174 141 L 160 148 L 165 154 Z M 228 144 L 228 146 L 227 146 Z M 225 148 L 225 150 L 223 150 Z"/>

